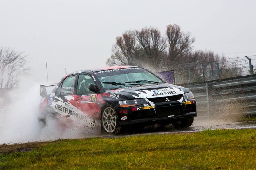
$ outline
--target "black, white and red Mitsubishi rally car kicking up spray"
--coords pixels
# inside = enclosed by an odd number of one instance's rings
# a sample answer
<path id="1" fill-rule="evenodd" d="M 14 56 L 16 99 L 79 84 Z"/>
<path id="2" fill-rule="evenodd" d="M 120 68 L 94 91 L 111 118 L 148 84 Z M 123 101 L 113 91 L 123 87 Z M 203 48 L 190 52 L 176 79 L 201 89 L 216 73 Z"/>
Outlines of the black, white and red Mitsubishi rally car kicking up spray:
<path id="1" fill-rule="evenodd" d="M 108 133 L 146 123 L 189 127 L 197 115 L 189 89 L 137 66 L 77 71 L 65 76 L 50 94 L 41 85 L 40 95 L 40 122 L 95 119 Z"/>

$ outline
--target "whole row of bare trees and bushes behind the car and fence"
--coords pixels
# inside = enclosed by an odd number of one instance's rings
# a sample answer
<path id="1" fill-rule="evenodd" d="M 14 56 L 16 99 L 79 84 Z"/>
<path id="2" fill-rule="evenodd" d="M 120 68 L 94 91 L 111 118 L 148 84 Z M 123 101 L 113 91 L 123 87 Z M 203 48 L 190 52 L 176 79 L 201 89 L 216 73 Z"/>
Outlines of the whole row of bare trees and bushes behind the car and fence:
<path id="1" fill-rule="evenodd" d="M 107 65 L 136 65 L 155 72 L 174 70 L 177 83 L 200 82 L 242 74 L 238 61 L 229 62 L 213 51 L 193 50 L 195 38 L 168 25 L 164 35 L 154 27 L 126 31 L 116 37 Z"/>

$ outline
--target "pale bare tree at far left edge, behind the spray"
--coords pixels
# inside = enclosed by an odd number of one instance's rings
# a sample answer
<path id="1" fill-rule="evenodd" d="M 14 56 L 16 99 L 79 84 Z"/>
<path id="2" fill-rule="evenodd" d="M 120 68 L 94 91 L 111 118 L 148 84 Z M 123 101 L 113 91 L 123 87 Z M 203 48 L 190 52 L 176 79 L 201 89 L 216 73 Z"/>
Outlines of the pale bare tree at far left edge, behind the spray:
<path id="1" fill-rule="evenodd" d="M 27 71 L 26 56 L 14 50 L 0 47 L 0 88 L 12 88 L 19 76 Z"/>

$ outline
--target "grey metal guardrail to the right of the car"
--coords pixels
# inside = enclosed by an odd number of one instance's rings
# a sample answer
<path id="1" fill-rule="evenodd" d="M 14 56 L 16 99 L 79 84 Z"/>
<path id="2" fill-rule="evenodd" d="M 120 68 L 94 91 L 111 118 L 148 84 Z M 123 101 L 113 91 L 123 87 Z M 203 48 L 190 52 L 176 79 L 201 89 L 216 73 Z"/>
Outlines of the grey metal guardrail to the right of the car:
<path id="1" fill-rule="evenodd" d="M 256 114 L 256 75 L 179 85 L 194 94 L 198 116 Z"/>

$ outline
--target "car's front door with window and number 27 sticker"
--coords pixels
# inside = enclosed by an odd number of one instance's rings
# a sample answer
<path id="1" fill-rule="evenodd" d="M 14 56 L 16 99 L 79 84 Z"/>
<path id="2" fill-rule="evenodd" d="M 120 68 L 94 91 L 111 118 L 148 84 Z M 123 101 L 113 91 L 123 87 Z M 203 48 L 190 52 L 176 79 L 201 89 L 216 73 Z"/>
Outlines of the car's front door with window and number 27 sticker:
<path id="1" fill-rule="evenodd" d="M 76 85 L 76 94 L 72 105 L 81 110 L 86 116 L 99 117 L 101 109 L 99 107 L 100 94 L 90 90 L 90 85 L 96 83 L 88 74 L 79 74 Z"/>

